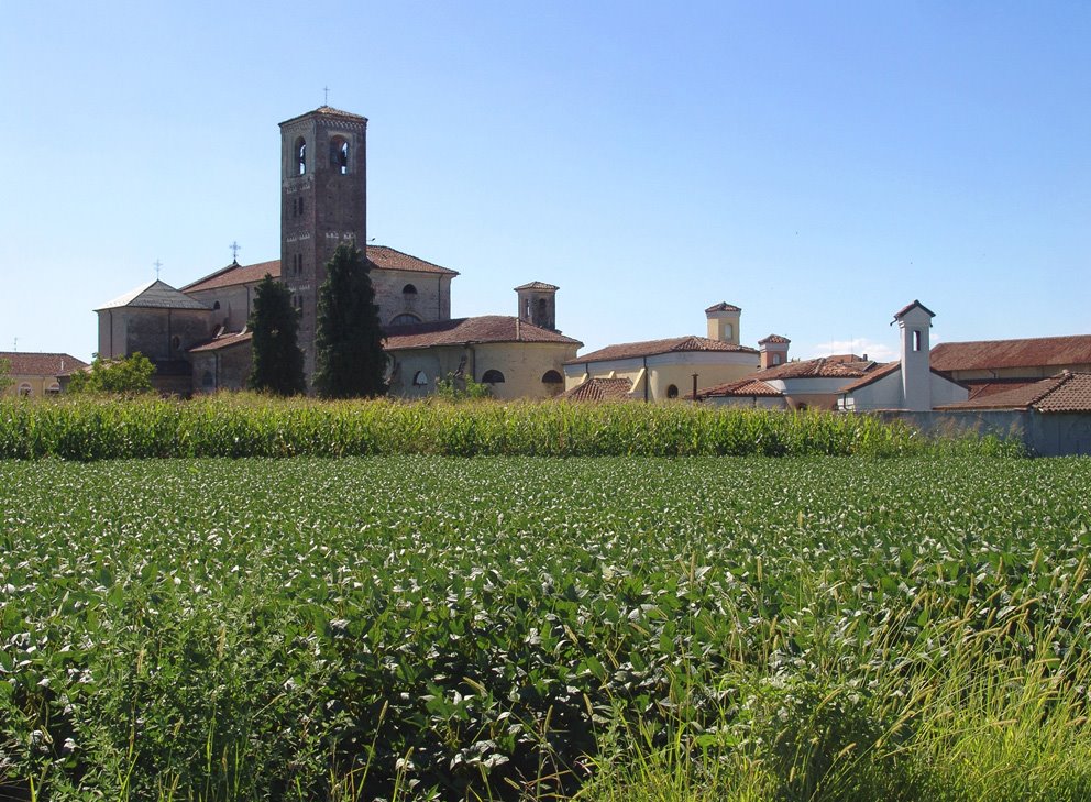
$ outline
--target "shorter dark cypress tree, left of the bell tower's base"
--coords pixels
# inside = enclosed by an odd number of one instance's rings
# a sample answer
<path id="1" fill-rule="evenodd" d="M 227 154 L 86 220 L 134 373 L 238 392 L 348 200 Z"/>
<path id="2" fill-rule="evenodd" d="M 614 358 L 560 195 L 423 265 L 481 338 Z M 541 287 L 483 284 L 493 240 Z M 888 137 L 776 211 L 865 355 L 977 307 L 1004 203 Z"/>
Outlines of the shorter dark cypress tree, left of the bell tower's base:
<path id="1" fill-rule="evenodd" d="M 275 395 L 296 395 L 307 389 L 304 381 L 304 352 L 297 343 L 299 316 L 291 306 L 291 293 L 265 274 L 254 294 L 250 315 L 254 364 L 247 384 Z"/>

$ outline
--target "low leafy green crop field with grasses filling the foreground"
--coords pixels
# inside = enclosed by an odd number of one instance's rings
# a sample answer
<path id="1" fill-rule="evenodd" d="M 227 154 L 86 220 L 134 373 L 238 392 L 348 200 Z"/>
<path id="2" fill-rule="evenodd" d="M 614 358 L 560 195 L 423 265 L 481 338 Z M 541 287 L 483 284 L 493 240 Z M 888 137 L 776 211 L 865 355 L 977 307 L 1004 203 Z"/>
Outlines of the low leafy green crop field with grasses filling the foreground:
<path id="1" fill-rule="evenodd" d="M 1091 463 L 0 462 L 0 799 L 1091 796 Z"/>

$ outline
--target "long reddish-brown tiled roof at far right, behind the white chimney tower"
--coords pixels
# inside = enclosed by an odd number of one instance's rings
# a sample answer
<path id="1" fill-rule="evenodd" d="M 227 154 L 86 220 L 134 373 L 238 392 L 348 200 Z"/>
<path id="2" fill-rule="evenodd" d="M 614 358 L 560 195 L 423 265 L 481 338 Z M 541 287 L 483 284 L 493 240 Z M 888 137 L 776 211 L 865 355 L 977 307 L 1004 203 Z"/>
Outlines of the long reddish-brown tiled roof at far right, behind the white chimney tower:
<path id="1" fill-rule="evenodd" d="M 932 366 L 937 371 L 1087 364 L 1091 364 L 1091 334 L 941 342 L 932 349 Z"/>

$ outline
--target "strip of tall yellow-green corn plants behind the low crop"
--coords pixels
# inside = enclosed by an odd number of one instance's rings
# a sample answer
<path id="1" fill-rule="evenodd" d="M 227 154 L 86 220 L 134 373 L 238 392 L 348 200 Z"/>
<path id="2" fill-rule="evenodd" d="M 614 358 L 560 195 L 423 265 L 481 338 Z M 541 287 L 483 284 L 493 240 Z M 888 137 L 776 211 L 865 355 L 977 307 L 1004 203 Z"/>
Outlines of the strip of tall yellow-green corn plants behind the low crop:
<path id="1" fill-rule="evenodd" d="M 995 439 L 929 440 L 863 415 L 685 404 L 321 402 L 224 394 L 192 400 L 0 400 L 0 459 L 444 454 L 699 457 L 995 454 Z"/>

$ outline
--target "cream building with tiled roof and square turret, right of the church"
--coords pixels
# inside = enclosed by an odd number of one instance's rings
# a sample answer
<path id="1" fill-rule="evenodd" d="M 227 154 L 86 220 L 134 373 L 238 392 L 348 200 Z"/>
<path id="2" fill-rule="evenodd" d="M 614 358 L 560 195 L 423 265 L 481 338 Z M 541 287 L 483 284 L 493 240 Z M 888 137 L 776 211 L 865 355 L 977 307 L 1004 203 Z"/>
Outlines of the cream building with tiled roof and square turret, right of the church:
<path id="1" fill-rule="evenodd" d="M 570 360 L 564 364 L 567 397 L 595 378 L 625 380 L 628 397 L 644 402 L 684 397 L 695 384 L 739 380 L 760 365 L 758 350 L 740 344 L 741 314 L 737 306 L 717 304 L 705 310 L 707 337 L 619 343 Z"/>

